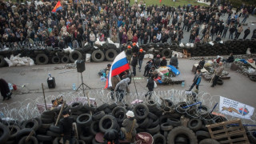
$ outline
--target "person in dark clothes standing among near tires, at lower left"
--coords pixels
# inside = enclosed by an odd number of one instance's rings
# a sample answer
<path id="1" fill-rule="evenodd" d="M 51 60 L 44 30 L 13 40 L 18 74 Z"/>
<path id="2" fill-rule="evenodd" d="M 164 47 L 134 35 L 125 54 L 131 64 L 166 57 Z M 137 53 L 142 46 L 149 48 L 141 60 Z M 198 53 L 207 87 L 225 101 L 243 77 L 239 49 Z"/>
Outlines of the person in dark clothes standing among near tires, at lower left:
<path id="1" fill-rule="evenodd" d="M 73 131 L 73 122 L 74 118 L 70 117 L 70 114 L 66 110 L 62 112 L 63 118 L 60 120 L 60 129 L 62 130 L 63 143 L 66 143 L 68 140 L 70 144 L 73 144 L 74 131 Z"/>

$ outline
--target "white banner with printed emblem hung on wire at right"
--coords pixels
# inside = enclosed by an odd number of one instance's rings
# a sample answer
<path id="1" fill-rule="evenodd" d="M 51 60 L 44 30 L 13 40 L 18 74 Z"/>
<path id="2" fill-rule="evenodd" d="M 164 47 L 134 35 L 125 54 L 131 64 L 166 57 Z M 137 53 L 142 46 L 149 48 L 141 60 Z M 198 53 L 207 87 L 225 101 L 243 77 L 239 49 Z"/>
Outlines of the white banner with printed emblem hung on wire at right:
<path id="1" fill-rule="evenodd" d="M 219 111 L 222 114 L 231 115 L 237 118 L 250 119 L 254 114 L 254 107 L 221 96 L 219 99 Z"/>

